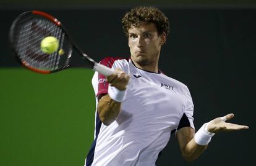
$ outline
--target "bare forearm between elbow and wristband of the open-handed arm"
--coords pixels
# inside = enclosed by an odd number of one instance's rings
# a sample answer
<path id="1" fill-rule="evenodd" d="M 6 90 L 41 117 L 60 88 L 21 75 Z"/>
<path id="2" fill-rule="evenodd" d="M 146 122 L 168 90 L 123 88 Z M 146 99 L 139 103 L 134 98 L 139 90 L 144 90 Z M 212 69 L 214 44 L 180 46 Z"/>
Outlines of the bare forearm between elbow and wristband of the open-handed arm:
<path id="1" fill-rule="evenodd" d="M 197 159 L 203 153 L 203 151 L 205 151 L 205 149 L 207 149 L 207 145 L 199 145 L 195 143 L 195 139 L 192 138 L 192 140 L 190 140 L 189 143 L 187 143 L 182 149 L 182 156 L 184 159 L 190 162 Z"/>

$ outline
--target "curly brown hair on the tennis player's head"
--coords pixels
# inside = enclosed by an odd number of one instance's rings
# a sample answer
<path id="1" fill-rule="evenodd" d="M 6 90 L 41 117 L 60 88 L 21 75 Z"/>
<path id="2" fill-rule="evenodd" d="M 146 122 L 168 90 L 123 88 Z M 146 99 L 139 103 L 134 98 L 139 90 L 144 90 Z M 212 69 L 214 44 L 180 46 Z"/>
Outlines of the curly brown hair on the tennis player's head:
<path id="1" fill-rule="evenodd" d="M 128 36 L 128 30 L 131 26 L 139 27 L 148 23 L 154 23 L 158 34 L 169 34 L 168 18 L 156 7 L 135 7 L 124 15 L 122 18 L 122 28 L 124 34 Z"/>

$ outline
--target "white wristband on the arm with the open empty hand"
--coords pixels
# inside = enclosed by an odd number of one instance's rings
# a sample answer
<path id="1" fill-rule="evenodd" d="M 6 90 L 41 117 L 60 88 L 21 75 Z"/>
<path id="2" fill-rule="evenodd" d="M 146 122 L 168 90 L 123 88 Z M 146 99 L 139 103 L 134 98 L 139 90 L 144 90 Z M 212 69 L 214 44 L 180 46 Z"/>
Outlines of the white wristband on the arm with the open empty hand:
<path id="1" fill-rule="evenodd" d="M 207 126 L 208 123 L 203 124 L 202 127 L 197 131 L 197 133 L 195 133 L 195 143 L 200 144 L 202 146 L 210 143 L 211 136 L 215 135 L 215 133 L 208 132 Z"/>

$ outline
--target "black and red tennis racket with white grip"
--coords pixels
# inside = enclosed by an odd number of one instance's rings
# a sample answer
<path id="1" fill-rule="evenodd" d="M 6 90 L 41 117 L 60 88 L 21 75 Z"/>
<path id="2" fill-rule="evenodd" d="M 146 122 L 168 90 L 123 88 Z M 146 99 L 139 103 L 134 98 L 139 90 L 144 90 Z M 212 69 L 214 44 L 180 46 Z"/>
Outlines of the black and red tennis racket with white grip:
<path id="1" fill-rule="evenodd" d="M 47 54 L 41 50 L 41 41 L 54 36 L 59 41 L 58 50 Z M 88 57 L 70 38 L 66 28 L 53 16 L 38 10 L 23 12 L 12 23 L 9 33 L 11 48 L 23 66 L 37 73 L 49 74 L 74 67 L 70 66 L 73 50 L 84 60 L 84 67 L 109 76 L 114 70 Z"/>

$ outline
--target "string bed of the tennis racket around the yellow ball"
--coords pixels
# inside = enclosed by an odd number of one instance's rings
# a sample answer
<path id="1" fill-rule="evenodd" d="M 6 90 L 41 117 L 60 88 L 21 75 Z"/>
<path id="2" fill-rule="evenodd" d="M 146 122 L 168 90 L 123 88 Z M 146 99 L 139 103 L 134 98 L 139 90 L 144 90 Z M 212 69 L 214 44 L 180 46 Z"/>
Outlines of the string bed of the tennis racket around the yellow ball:
<path id="1" fill-rule="evenodd" d="M 27 15 L 16 24 L 14 47 L 20 60 L 32 68 L 54 71 L 69 63 L 71 45 L 62 29 L 39 15 Z M 54 36 L 59 40 L 59 49 L 51 54 L 41 51 L 41 40 Z M 59 50 L 62 50 L 59 53 Z"/>

